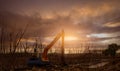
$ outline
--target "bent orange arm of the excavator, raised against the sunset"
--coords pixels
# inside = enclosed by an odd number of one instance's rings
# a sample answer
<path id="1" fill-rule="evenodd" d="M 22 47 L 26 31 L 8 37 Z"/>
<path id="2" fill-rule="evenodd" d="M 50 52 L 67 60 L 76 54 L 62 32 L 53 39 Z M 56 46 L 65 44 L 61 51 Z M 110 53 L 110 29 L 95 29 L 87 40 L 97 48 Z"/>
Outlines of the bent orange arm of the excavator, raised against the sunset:
<path id="1" fill-rule="evenodd" d="M 64 40 L 63 40 L 63 38 L 64 38 L 64 31 L 62 31 L 61 33 L 57 34 L 57 36 L 54 38 L 54 40 L 49 45 L 47 45 L 47 47 L 44 49 L 44 51 L 42 53 L 42 60 L 43 61 L 48 61 L 48 57 L 47 57 L 48 50 L 55 44 L 55 42 L 57 40 L 60 39 L 60 37 L 62 37 L 62 46 L 63 46 L 63 43 L 64 43 Z"/>

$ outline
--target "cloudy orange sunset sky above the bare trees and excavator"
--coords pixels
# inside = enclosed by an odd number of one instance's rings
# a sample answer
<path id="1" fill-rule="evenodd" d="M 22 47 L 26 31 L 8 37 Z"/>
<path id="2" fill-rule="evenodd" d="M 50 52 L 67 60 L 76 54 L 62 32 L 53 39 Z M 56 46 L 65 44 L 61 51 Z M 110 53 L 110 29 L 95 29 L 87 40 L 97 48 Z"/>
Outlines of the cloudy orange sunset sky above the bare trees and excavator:
<path id="1" fill-rule="evenodd" d="M 73 44 L 120 44 L 120 0 L 0 0 L 0 28 L 50 41 L 64 29 Z M 69 42 L 69 41 L 67 41 Z M 70 44 L 71 44 L 70 43 Z"/>

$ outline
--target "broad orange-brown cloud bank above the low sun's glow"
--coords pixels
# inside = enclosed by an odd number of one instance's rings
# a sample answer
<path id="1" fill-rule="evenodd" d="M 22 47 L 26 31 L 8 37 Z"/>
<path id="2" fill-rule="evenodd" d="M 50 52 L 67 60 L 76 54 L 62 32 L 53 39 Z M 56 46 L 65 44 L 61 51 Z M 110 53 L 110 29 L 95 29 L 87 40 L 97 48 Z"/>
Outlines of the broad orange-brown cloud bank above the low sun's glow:
<path id="1" fill-rule="evenodd" d="M 26 36 L 30 37 L 55 35 L 61 29 L 64 29 L 67 34 L 76 34 L 79 37 L 86 37 L 89 34 L 120 32 L 119 1 L 76 0 L 73 2 L 74 4 L 70 2 L 64 3 L 63 8 L 59 7 L 61 4 L 52 5 L 51 2 L 50 5 L 48 4 L 50 9 L 41 8 L 42 5 L 39 9 L 39 5 L 35 5 L 34 9 L 32 7 L 28 10 L 23 5 L 27 14 L 22 13 L 22 11 L 16 12 L 19 11 L 18 9 L 13 10 L 15 12 L 0 12 L 0 26 L 4 23 L 8 31 L 15 31 L 24 29 L 25 24 L 29 24 Z M 7 7 L 6 5 L 6 9 Z"/>

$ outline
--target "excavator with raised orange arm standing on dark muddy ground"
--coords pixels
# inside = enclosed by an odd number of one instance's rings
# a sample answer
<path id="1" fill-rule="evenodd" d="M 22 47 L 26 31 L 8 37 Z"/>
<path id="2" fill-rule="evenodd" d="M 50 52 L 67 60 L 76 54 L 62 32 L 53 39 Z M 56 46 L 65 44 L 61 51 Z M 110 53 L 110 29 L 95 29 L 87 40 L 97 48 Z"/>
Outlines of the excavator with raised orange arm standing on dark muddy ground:
<path id="1" fill-rule="evenodd" d="M 33 67 L 33 66 L 41 67 L 41 66 L 51 65 L 51 63 L 48 59 L 48 56 L 47 56 L 48 51 L 56 43 L 56 41 L 58 41 L 61 37 L 62 37 L 62 46 L 61 46 L 62 56 L 61 56 L 61 60 L 64 64 L 65 63 L 65 61 L 64 61 L 64 30 L 62 30 L 62 32 L 58 33 L 56 35 L 56 37 L 54 38 L 54 40 L 44 48 L 44 51 L 41 55 L 41 58 L 37 57 L 37 55 L 36 55 L 37 53 L 35 53 L 35 55 L 33 55 L 28 60 L 27 65 L 29 67 Z"/>

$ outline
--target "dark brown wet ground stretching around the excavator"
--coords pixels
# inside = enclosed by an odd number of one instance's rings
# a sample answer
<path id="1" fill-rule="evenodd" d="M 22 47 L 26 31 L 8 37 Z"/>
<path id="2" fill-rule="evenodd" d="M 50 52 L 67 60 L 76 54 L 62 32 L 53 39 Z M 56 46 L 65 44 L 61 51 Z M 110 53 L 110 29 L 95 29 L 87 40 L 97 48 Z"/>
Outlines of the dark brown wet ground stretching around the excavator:
<path id="1" fill-rule="evenodd" d="M 106 57 L 100 54 L 66 55 L 67 65 L 61 66 L 60 55 L 49 55 L 52 66 L 26 65 L 31 54 L 0 54 L 0 71 L 120 71 L 120 56 Z"/>

